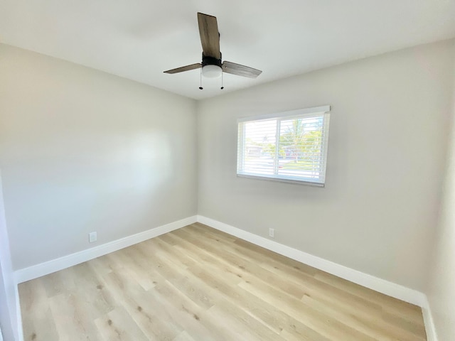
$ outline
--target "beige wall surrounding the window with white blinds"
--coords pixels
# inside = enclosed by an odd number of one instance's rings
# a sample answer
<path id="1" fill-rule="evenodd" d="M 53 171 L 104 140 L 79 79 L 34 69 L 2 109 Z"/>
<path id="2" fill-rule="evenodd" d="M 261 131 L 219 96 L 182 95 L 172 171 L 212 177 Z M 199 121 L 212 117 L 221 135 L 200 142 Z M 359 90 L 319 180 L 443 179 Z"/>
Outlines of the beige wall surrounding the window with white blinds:
<path id="1" fill-rule="evenodd" d="M 198 102 L 198 213 L 263 237 L 272 227 L 279 243 L 423 291 L 453 45 L 401 50 Z M 237 118 L 326 104 L 326 188 L 237 178 Z"/>

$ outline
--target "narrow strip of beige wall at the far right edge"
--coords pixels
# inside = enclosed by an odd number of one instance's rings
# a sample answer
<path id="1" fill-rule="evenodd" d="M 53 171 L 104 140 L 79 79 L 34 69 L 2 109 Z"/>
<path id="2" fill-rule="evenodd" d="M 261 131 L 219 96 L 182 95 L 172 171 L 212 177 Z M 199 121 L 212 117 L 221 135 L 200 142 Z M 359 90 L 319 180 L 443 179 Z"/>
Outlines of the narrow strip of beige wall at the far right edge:
<path id="1" fill-rule="evenodd" d="M 453 65 L 451 141 L 427 293 L 439 341 L 455 337 L 455 59 Z"/>

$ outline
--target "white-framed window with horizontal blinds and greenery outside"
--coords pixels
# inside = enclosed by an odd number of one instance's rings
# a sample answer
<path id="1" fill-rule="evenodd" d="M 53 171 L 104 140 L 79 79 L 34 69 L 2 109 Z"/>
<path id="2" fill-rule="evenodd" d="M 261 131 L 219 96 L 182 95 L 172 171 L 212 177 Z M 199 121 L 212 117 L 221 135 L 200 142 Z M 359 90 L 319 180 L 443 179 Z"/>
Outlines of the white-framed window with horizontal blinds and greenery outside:
<path id="1" fill-rule="evenodd" d="M 323 186 L 330 106 L 238 120 L 237 175 Z"/>

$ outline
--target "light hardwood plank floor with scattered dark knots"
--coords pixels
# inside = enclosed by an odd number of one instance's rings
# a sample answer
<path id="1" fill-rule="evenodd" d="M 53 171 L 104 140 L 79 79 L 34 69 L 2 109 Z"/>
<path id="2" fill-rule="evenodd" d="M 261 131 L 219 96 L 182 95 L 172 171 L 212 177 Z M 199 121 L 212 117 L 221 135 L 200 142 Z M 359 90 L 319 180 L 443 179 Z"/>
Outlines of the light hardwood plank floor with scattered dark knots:
<path id="1" fill-rule="evenodd" d="M 422 311 L 192 224 L 19 285 L 25 340 L 427 340 Z"/>

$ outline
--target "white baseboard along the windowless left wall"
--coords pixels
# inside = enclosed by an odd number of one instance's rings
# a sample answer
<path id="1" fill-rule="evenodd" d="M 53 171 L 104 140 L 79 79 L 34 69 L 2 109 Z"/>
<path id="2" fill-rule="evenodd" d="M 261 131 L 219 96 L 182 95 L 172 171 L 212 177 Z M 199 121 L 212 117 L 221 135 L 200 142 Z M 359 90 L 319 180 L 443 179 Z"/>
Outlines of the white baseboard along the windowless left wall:
<path id="1" fill-rule="evenodd" d="M 124 247 L 130 247 L 134 244 L 144 242 L 144 240 L 157 237 L 161 234 L 171 232 L 175 229 L 180 229 L 181 227 L 189 224 L 193 224 L 197 221 L 196 218 L 196 215 L 193 217 L 188 217 L 183 220 L 178 220 L 177 222 L 171 222 L 170 224 L 155 227 L 154 229 L 149 229 L 148 231 L 133 234 L 132 236 L 114 240 L 114 242 L 92 247 L 91 249 L 76 252 L 75 254 L 68 254 L 68 256 L 63 256 L 58 259 L 36 264 L 25 269 L 16 270 L 14 271 L 16 283 L 22 283 L 33 278 L 52 274 L 55 271 L 66 269 L 70 266 L 83 263 L 84 261 L 90 261 L 90 259 L 104 256 L 105 254 L 123 249 Z"/>

